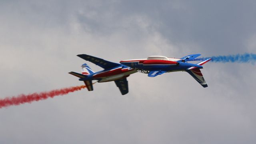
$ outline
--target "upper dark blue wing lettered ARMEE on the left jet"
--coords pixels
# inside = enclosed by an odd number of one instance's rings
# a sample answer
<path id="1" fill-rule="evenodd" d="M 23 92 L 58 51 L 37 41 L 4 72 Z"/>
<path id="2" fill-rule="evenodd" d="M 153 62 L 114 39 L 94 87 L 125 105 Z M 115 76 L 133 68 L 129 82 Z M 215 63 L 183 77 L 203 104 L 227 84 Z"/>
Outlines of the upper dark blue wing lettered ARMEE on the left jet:
<path id="1" fill-rule="evenodd" d="M 102 58 L 97 58 L 97 57 L 90 56 L 90 55 L 87 55 L 87 54 L 78 54 L 77 56 L 84 59 L 84 60 L 92 62 L 92 63 L 96 64 L 97 66 L 100 66 L 104 69 L 114 68 L 116 66 L 122 66 L 122 64 L 109 62 L 107 60 L 103 60 Z"/>

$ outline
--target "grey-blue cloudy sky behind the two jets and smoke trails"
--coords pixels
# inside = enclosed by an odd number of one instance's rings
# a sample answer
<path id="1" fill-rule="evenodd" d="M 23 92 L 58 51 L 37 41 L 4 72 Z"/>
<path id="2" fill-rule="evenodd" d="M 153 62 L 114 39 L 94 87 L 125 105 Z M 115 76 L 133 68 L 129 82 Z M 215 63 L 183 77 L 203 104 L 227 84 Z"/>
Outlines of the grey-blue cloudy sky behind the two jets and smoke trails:
<path id="1" fill-rule="evenodd" d="M 247 0 L 0 1 L 0 98 L 83 84 L 89 54 L 109 61 L 256 53 L 256 2 Z M 90 62 L 94 71 L 102 70 Z M 96 83 L 0 109 L 1 144 L 254 144 L 256 66 L 207 63 L 202 88 L 186 72 Z"/>

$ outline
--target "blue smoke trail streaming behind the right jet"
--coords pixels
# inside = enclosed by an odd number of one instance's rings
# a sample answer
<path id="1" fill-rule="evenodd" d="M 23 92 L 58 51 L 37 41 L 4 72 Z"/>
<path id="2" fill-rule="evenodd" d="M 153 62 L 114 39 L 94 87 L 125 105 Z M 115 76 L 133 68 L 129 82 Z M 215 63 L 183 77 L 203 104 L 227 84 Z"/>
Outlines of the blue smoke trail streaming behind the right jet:
<path id="1" fill-rule="evenodd" d="M 254 64 L 256 62 L 256 54 L 236 54 L 236 55 L 228 55 L 228 56 L 212 56 L 212 57 L 203 57 L 203 58 L 196 58 L 194 61 L 203 61 L 208 58 L 212 58 L 212 62 L 251 62 Z"/>

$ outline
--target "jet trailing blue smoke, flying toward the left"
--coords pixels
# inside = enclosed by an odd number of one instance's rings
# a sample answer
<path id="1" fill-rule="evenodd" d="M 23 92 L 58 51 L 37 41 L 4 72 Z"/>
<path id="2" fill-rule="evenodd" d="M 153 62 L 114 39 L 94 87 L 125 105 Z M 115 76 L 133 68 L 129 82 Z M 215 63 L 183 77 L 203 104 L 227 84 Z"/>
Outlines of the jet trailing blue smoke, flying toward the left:
<path id="1" fill-rule="evenodd" d="M 146 59 L 134 59 L 134 60 L 121 60 L 120 64 L 130 66 L 138 72 L 148 74 L 149 77 L 155 77 L 166 72 L 188 72 L 199 84 L 204 88 L 208 87 L 202 72 L 203 64 L 209 62 L 211 58 L 199 62 L 197 64 L 188 63 L 188 61 L 194 60 L 201 54 L 190 54 L 180 59 L 167 58 L 166 56 L 149 56 Z"/>

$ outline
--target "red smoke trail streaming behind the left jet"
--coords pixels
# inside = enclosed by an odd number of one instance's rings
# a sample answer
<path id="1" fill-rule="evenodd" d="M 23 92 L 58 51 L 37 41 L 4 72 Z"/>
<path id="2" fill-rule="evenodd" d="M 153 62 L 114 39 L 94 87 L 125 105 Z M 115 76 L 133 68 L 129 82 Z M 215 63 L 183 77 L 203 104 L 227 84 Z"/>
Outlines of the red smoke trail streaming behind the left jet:
<path id="1" fill-rule="evenodd" d="M 62 88 L 59 90 L 51 90 L 49 92 L 40 92 L 33 94 L 20 94 L 18 96 L 13 96 L 10 98 L 0 99 L 0 108 L 20 105 L 26 102 L 31 103 L 33 101 L 45 100 L 47 98 L 53 98 L 54 96 L 61 96 L 64 94 L 68 94 L 70 92 L 81 90 L 82 88 L 86 88 L 86 86 L 73 86 L 70 88 Z"/>

